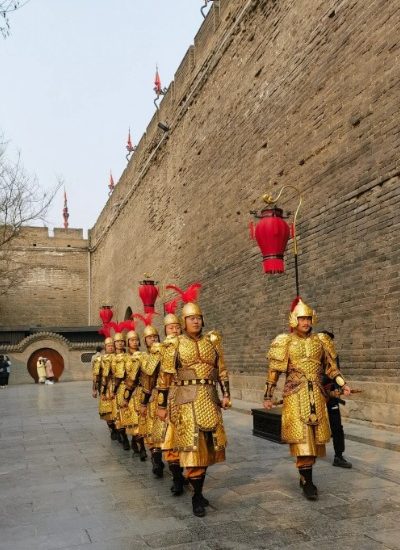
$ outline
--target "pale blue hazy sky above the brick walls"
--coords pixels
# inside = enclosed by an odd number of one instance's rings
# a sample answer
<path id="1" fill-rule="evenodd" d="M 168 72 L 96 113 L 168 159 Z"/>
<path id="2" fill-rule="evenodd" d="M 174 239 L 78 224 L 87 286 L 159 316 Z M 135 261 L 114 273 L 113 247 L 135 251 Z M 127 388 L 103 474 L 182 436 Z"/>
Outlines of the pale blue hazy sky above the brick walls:
<path id="1" fill-rule="evenodd" d="M 204 0 L 30 0 L 0 37 L 0 133 L 44 189 L 65 183 L 70 227 L 91 228 L 173 80 Z M 63 189 L 46 225 L 62 227 Z"/>

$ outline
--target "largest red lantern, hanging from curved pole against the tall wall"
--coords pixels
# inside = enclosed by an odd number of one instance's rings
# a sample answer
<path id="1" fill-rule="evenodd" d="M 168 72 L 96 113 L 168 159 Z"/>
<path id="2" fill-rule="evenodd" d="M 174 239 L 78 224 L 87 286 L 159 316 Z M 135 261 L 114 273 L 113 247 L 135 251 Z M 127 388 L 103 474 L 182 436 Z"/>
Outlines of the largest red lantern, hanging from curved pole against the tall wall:
<path id="1" fill-rule="evenodd" d="M 259 214 L 253 212 L 260 221 L 254 229 L 263 255 L 264 273 L 284 273 L 283 255 L 290 236 L 290 227 L 283 219 L 281 208 L 265 208 Z"/>

